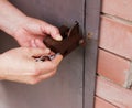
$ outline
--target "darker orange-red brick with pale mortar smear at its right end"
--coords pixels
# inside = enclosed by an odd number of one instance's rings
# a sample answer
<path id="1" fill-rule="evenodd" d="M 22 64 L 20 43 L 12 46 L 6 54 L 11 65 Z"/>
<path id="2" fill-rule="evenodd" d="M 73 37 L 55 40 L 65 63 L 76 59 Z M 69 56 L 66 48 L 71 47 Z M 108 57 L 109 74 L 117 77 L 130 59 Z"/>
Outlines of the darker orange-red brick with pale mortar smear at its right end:
<path id="1" fill-rule="evenodd" d="M 103 50 L 99 50 L 98 74 L 123 86 L 127 77 L 127 71 L 129 71 L 129 61 Z"/>

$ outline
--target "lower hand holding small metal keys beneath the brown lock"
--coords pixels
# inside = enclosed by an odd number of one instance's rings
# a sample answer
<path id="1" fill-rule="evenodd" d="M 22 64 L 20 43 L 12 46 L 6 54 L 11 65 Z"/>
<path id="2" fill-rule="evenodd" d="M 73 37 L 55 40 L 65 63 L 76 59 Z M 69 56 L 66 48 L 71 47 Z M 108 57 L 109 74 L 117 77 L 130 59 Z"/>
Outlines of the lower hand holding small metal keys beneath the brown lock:
<path id="1" fill-rule="evenodd" d="M 0 77 L 2 79 L 36 84 L 56 73 L 63 56 L 57 55 L 53 61 L 36 62 L 33 56 L 47 55 L 50 50 L 19 47 L 0 55 Z"/>

